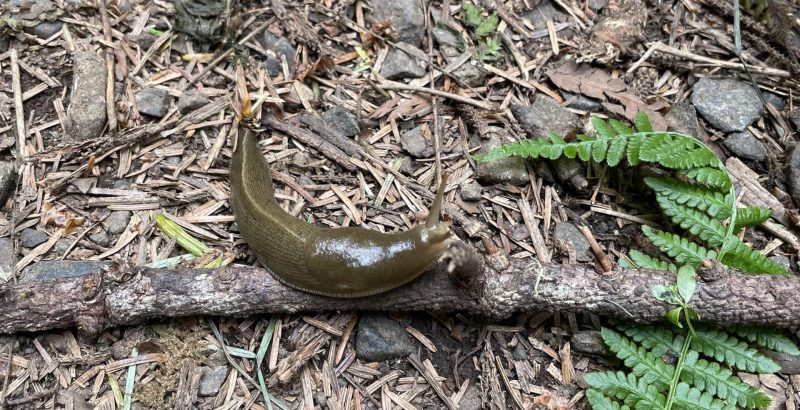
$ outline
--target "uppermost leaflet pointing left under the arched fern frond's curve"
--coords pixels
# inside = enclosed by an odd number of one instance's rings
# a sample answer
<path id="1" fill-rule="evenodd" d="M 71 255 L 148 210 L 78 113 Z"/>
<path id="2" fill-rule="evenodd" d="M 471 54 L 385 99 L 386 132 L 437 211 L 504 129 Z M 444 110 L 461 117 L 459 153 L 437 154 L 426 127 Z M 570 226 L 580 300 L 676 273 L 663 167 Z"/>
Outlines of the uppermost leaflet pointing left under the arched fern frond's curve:
<path id="1" fill-rule="evenodd" d="M 704 211 L 708 216 L 717 220 L 724 220 L 731 216 L 730 209 L 733 207 L 733 198 L 730 195 L 687 184 L 675 178 L 647 177 L 644 182 L 657 194 L 681 205 Z"/>

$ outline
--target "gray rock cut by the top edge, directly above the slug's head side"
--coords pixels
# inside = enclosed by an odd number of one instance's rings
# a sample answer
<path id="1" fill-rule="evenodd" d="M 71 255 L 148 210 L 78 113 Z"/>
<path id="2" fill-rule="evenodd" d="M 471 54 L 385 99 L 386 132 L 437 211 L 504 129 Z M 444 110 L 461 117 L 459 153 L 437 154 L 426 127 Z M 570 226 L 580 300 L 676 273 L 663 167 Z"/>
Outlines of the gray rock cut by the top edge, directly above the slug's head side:
<path id="1" fill-rule="evenodd" d="M 372 3 L 372 16 L 377 21 L 390 21 L 397 40 L 415 46 L 422 44 L 425 15 L 417 0 L 376 1 Z"/>

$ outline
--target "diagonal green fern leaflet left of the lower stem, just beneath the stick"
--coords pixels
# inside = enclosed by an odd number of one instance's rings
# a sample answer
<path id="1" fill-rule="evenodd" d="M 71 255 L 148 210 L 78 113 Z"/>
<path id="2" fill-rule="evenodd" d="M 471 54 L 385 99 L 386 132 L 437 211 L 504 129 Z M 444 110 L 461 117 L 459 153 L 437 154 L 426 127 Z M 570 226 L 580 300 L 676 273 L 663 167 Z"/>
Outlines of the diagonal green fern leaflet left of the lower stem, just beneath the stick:
<path id="1" fill-rule="evenodd" d="M 604 327 L 600 333 L 606 346 L 625 363 L 625 366 L 631 368 L 634 375 L 659 390 L 669 386 L 675 373 L 673 366 L 664 363 L 661 358 L 644 347 L 637 346 L 630 339 L 609 328 Z"/>

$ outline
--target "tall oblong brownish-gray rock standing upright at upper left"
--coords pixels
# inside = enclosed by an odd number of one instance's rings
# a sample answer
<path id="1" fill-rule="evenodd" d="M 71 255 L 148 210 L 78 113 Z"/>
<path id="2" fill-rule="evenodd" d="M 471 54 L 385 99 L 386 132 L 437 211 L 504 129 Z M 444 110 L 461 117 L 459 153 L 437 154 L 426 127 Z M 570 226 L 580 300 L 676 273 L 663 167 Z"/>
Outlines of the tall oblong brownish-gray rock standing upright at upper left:
<path id="1" fill-rule="evenodd" d="M 95 138 L 106 125 L 106 64 L 95 52 L 77 52 L 72 65 L 72 93 L 67 133 L 76 141 Z"/>

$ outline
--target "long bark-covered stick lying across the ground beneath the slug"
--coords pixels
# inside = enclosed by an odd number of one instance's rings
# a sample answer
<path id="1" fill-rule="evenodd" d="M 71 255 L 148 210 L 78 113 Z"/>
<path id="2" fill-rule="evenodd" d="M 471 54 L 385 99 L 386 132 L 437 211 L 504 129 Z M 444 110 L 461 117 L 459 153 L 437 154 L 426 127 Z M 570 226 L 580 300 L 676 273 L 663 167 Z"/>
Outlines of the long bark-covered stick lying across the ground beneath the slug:
<path id="1" fill-rule="evenodd" d="M 468 245 L 460 245 L 469 248 Z M 467 262 L 450 264 L 469 269 Z M 97 333 L 148 319 L 190 315 L 246 316 L 274 312 L 378 310 L 466 311 L 507 317 L 517 311 L 590 312 L 634 322 L 663 320 L 669 306 L 656 300 L 654 285 L 674 274 L 622 270 L 601 275 L 581 266 L 532 267 L 514 260 L 502 274 L 481 270 L 472 285 L 455 284 L 440 263 L 407 286 L 365 298 L 311 295 L 282 285 L 252 267 L 111 271 L 56 281 L 0 285 L 0 334 L 77 326 Z M 474 269 L 474 267 L 472 267 Z M 800 326 L 798 276 L 720 272 L 698 279 L 692 305 L 703 320 L 725 325 Z M 477 280 L 482 279 L 482 280 Z"/>

